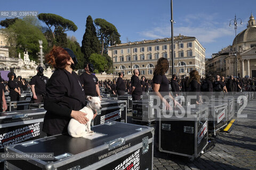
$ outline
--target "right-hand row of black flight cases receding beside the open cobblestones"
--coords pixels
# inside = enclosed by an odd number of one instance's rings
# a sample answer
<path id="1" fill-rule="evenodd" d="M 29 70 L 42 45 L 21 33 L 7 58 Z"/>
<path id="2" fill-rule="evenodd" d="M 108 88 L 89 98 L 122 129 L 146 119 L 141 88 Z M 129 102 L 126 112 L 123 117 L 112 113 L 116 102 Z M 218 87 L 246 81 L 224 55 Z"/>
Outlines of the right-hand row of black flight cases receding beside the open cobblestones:
<path id="1" fill-rule="evenodd" d="M 132 120 L 146 122 L 148 125 L 155 123 L 159 151 L 187 156 L 193 160 L 207 146 L 208 133 L 215 136 L 228 121 L 241 114 L 254 92 L 236 92 L 223 96 L 212 93 L 202 105 L 188 105 L 188 95 L 181 94 L 175 100 L 182 107 L 174 107 L 172 111 L 157 111 L 153 96 L 149 94 L 141 100 L 133 101 Z"/>

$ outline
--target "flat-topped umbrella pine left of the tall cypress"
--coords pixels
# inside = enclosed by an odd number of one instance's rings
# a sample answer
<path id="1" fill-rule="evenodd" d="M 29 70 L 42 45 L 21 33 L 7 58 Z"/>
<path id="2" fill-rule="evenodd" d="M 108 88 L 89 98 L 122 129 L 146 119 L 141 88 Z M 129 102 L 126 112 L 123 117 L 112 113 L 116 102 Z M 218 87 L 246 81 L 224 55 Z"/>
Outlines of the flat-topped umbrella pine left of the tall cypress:
<path id="1" fill-rule="evenodd" d="M 51 13 L 41 13 L 38 15 L 38 19 L 43 21 L 47 27 L 51 30 L 53 39 L 55 39 L 54 32 L 56 31 L 57 27 L 60 26 L 65 31 L 76 31 L 77 26 L 73 21 L 63 18 L 60 15 L 51 14 Z M 54 30 L 52 30 L 52 26 Z"/>

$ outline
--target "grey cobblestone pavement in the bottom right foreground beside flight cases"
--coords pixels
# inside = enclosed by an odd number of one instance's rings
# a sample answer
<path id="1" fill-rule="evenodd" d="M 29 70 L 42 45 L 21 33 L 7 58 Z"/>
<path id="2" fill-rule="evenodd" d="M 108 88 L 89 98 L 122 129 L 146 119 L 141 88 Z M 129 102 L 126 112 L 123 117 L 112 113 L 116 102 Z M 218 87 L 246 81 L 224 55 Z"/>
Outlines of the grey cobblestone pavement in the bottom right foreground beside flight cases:
<path id="1" fill-rule="evenodd" d="M 154 149 L 154 169 L 256 169 L 256 99 L 249 101 L 242 117 L 230 133 L 218 132 L 215 145 L 193 162 Z"/>

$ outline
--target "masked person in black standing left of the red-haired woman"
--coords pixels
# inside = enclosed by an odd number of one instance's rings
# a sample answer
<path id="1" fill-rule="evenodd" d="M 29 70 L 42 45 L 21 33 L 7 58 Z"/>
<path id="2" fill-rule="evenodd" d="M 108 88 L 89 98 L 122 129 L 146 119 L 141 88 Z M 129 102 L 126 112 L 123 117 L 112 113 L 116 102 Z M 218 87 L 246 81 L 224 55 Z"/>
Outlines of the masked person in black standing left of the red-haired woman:
<path id="1" fill-rule="evenodd" d="M 49 78 L 44 76 L 44 69 L 42 66 L 37 67 L 37 74 L 30 81 L 30 88 L 33 93 L 30 103 L 43 103 L 46 94 L 46 83 Z"/>

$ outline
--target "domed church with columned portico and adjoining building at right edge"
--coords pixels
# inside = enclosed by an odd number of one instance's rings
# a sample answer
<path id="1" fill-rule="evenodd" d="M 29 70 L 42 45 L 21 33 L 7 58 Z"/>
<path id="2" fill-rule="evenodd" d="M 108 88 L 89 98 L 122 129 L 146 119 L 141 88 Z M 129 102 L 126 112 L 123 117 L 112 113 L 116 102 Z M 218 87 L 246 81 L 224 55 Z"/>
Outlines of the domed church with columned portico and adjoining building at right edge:
<path id="1" fill-rule="evenodd" d="M 237 47 L 237 69 L 236 69 Z M 223 57 L 224 60 L 223 60 Z M 218 72 L 216 61 L 221 61 L 221 70 Z M 256 78 L 256 22 L 251 14 L 247 28 L 238 33 L 231 46 L 222 49 L 217 55 L 206 60 L 206 74 L 220 74 L 222 76 L 234 75 L 238 77 Z"/>

